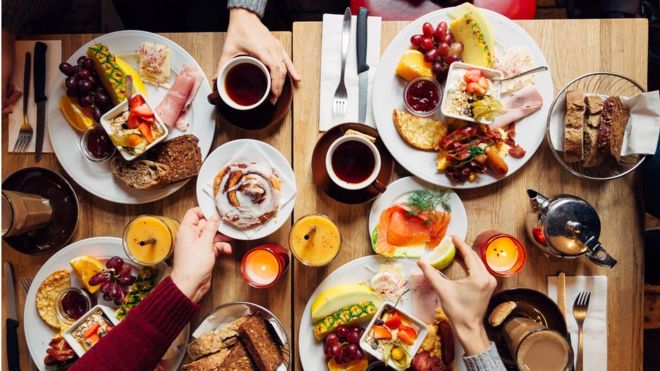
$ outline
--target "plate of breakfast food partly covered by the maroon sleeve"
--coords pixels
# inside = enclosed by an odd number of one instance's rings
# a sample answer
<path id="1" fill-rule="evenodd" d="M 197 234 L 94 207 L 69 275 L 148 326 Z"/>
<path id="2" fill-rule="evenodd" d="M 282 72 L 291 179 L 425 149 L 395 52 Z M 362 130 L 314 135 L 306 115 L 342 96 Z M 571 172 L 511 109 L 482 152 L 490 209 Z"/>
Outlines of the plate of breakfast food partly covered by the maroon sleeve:
<path id="1" fill-rule="evenodd" d="M 126 255 L 122 240 L 94 237 L 54 254 L 39 269 L 25 299 L 25 339 L 40 370 L 74 363 L 169 274 L 164 264 L 143 267 Z M 190 325 L 177 336 L 159 363 L 176 370 Z"/>

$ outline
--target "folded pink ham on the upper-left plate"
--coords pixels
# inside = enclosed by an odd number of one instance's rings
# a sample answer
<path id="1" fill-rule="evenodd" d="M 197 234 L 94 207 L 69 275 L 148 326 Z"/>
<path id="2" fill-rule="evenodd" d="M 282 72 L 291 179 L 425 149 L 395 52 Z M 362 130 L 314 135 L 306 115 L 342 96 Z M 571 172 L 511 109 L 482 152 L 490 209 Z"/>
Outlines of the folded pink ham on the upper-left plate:
<path id="1" fill-rule="evenodd" d="M 201 83 L 201 73 L 194 67 L 184 65 L 181 73 L 174 79 L 174 84 L 167 95 L 156 107 L 156 112 L 165 125 L 182 131 L 188 129 L 186 112 Z"/>

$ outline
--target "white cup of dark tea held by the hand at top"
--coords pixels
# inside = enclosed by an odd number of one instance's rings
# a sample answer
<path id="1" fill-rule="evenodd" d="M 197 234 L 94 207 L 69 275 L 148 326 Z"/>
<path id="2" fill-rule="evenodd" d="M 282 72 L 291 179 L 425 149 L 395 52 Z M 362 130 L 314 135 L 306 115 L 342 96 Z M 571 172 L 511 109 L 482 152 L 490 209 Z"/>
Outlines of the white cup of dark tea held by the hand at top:
<path id="1" fill-rule="evenodd" d="M 260 60 L 242 55 L 222 66 L 216 84 L 220 98 L 229 107 L 251 110 L 268 98 L 270 73 Z"/>

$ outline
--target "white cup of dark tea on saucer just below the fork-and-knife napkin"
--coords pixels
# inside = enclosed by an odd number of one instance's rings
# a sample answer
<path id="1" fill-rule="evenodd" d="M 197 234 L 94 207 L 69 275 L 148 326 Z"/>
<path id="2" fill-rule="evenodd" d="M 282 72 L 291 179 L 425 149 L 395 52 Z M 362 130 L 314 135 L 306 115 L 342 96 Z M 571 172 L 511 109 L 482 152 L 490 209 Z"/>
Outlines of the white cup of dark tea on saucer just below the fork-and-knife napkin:
<path id="1" fill-rule="evenodd" d="M 337 138 L 325 155 L 325 167 L 332 181 L 349 191 L 374 186 L 379 192 L 385 185 L 377 178 L 380 173 L 380 153 L 376 145 L 360 135 Z"/>

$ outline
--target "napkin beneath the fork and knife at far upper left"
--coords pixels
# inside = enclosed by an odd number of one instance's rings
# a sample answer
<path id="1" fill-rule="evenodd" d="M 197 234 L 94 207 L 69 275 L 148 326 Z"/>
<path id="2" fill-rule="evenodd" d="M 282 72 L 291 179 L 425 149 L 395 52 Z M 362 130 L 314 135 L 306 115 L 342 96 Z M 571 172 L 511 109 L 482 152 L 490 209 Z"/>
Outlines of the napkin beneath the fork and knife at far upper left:
<path id="1" fill-rule="evenodd" d="M 23 99 L 29 99 L 28 101 L 28 121 L 34 130 L 32 134 L 32 140 L 30 144 L 25 149 L 25 152 L 34 152 L 35 143 L 37 142 L 37 104 L 34 103 L 34 45 L 37 41 L 41 41 L 48 45 L 46 49 L 46 96 L 50 94 L 51 88 L 55 82 L 55 78 L 61 72 L 59 70 L 59 65 L 62 62 L 62 40 L 20 40 L 16 41 L 16 54 L 14 56 L 14 75 L 12 76 L 12 82 L 14 87 L 21 92 L 23 90 L 23 71 L 25 70 L 25 53 L 30 52 L 32 54 L 32 77 L 30 77 L 30 96 L 26 97 L 25 95 L 14 104 L 14 112 L 9 114 L 8 117 L 8 133 L 9 136 L 9 152 L 14 152 L 14 145 L 16 144 L 16 139 L 18 139 L 18 132 L 21 129 L 23 124 Z M 51 99 L 51 97 L 48 97 Z M 48 113 L 48 112 L 46 112 Z M 48 120 L 49 117 L 46 116 L 46 128 L 44 130 L 44 153 L 52 153 L 53 147 L 50 144 L 50 136 L 48 135 Z"/>

